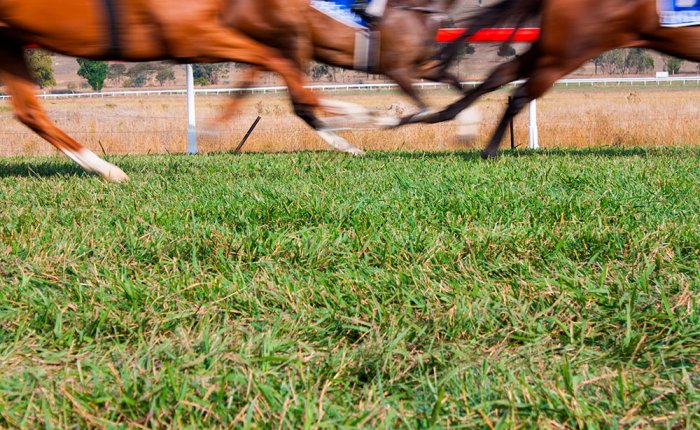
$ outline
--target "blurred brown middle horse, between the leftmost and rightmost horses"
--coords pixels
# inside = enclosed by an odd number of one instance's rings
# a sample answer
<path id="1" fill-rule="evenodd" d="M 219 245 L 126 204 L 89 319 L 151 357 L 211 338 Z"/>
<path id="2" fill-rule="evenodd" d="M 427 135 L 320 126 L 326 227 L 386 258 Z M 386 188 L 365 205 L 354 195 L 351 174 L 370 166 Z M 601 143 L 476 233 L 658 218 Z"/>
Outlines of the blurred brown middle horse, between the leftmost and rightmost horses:
<path id="1" fill-rule="evenodd" d="M 443 23 L 449 11 L 458 0 L 390 0 L 383 19 L 373 30 L 380 34 L 378 61 L 371 72 L 382 74 L 396 82 L 401 90 L 408 95 L 421 111 L 427 109 L 427 105 L 420 97 L 413 83 L 425 79 L 433 82 L 442 82 L 462 90 L 459 79 L 447 70 L 447 67 L 434 67 L 434 58 L 438 53 L 435 36 L 440 24 Z M 277 4 L 285 0 L 276 0 Z M 268 5 L 269 7 L 270 5 Z M 231 17 L 229 23 L 234 28 L 244 29 L 246 34 L 260 41 L 271 44 L 274 42 L 270 36 L 270 29 L 263 19 L 266 9 L 248 9 L 252 15 L 239 13 Z M 300 67 L 304 67 L 311 58 L 332 66 L 349 70 L 357 70 L 356 57 L 356 27 L 348 26 L 307 2 L 308 19 L 298 34 L 306 34 L 309 40 L 306 43 L 284 49 L 282 55 L 294 61 Z M 255 25 L 255 24 L 258 25 Z M 308 46 L 309 49 L 299 49 L 299 46 Z M 364 70 L 362 70 L 364 71 Z M 247 88 L 255 83 L 259 69 L 248 69 L 244 81 L 239 85 Z M 238 102 L 244 97 L 239 93 L 226 112 L 217 119 L 224 121 L 236 113 Z M 322 102 L 323 103 L 323 102 Z M 336 112 L 351 113 L 345 110 L 353 109 L 353 106 L 333 103 L 326 106 Z M 357 109 L 357 107 L 355 107 Z M 360 110 L 352 111 L 354 114 Z"/>

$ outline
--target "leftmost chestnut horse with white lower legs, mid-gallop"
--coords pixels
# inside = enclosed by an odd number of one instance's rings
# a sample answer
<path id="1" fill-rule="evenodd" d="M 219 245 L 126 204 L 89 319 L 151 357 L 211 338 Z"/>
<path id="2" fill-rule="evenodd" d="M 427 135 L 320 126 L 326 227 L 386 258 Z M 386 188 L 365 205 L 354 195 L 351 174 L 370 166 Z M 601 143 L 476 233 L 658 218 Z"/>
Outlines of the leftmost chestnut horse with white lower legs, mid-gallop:
<path id="1" fill-rule="evenodd" d="M 0 0 L 0 80 L 18 119 L 88 171 L 112 181 L 127 180 L 118 167 L 60 130 L 47 117 L 35 95 L 23 46 L 37 44 L 61 54 L 124 61 L 175 60 L 241 62 L 279 73 L 295 112 L 329 143 L 344 140 L 324 130 L 315 116 L 316 97 L 303 86 L 298 63 L 280 50 L 303 50 L 308 0 Z M 275 39 L 260 43 L 234 28 L 232 17 L 262 9 L 263 25 Z M 259 25 L 256 23 L 255 25 Z M 346 143 L 346 142 L 345 142 Z M 352 148 L 341 148 L 352 150 Z"/>

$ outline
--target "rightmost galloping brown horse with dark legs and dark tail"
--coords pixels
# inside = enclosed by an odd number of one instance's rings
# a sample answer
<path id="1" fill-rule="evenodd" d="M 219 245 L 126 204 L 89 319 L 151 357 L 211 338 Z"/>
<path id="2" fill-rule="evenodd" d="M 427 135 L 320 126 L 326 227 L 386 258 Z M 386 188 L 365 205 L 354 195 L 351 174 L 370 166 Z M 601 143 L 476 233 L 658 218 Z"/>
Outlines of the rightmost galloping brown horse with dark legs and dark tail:
<path id="1" fill-rule="evenodd" d="M 649 48 L 700 61 L 700 27 L 661 27 L 657 0 L 504 0 L 473 16 L 461 40 L 481 28 L 522 26 L 537 18 L 541 20 L 540 38 L 527 52 L 497 67 L 461 100 L 420 122 L 450 120 L 482 95 L 525 79 L 484 150 L 484 158 L 495 157 L 513 117 L 557 80 L 605 51 Z M 409 118 L 404 122 L 417 121 Z"/>

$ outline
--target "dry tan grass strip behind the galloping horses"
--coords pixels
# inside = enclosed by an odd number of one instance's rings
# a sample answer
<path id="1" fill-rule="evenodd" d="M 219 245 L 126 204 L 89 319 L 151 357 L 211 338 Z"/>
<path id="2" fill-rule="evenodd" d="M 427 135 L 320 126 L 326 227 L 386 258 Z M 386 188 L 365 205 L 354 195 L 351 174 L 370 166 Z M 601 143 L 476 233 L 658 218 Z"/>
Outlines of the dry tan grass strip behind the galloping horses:
<path id="1" fill-rule="evenodd" d="M 388 109 L 406 103 L 397 93 L 328 94 L 364 106 Z M 700 111 L 700 89 L 696 88 L 586 88 L 555 90 L 539 103 L 541 144 L 544 147 L 591 147 L 627 145 L 699 144 L 700 131 L 693 121 Z M 441 106 L 455 98 L 435 91 L 428 95 Z M 485 97 L 480 136 L 472 146 L 483 145 L 506 102 L 499 92 Z M 241 115 L 219 130 L 202 130 L 226 102 L 224 97 L 198 99 L 199 144 L 202 151 L 234 148 L 257 115 L 263 117 L 246 145 L 246 151 L 320 150 L 327 147 L 290 110 L 283 95 L 256 95 Z M 60 127 L 88 147 L 108 154 L 183 152 L 186 148 L 184 99 L 144 97 L 140 99 L 67 99 L 46 103 Z M 527 141 L 527 115 L 516 120 L 516 142 Z M 0 156 L 45 155 L 52 147 L 12 118 L 5 102 L 0 105 Z M 344 132 L 364 149 L 453 150 L 454 124 L 411 126 L 400 130 Z"/>

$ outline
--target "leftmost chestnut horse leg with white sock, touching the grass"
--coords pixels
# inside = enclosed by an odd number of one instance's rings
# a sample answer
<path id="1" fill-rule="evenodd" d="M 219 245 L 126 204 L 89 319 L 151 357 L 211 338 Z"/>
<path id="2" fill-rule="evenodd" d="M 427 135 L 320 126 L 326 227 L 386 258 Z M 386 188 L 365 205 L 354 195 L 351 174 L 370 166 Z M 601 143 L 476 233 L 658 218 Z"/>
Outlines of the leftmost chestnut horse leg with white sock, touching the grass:
<path id="1" fill-rule="evenodd" d="M 78 163 L 83 169 L 98 173 L 113 182 L 127 181 L 129 177 L 117 166 L 110 164 L 73 140 L 51 122 L 35 95 L 35 86 L 19 43 L 0 41 L 0 80 L 12 96 L 17 119 L 32 131 Z"/>

